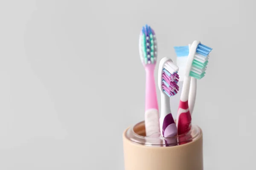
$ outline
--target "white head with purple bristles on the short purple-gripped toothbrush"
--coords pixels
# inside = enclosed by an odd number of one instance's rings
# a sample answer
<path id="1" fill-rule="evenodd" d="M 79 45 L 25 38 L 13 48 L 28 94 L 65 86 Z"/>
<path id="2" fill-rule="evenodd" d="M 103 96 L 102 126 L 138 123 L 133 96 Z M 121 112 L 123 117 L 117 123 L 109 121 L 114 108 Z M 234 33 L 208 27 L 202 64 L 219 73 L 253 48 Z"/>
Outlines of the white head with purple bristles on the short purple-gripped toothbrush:
<path id="1" fill-rule="evenodd" d="M 158 88 L 161 93 L 165 93 L 169 97 L 177 94 L 179 91 L 178 70 L 179 68 L 173 64 L 172 59 L 167 57 L 161 59 L 158 70 Z"/>

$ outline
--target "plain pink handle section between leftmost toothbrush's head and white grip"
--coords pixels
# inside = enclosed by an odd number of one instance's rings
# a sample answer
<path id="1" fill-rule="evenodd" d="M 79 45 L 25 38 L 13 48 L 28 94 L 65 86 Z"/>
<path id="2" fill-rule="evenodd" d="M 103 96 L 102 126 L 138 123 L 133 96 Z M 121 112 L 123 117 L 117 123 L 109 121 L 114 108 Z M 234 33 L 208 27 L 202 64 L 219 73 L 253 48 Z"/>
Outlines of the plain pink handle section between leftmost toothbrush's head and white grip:
<path id="1" fill-rule="evenodd" d="M 145 111 L 148 109 L 157 109 L 157 91 L 154 80 L 154 67 L 155 65 L 146 66 L 146 93 L 145 93 Z"/>

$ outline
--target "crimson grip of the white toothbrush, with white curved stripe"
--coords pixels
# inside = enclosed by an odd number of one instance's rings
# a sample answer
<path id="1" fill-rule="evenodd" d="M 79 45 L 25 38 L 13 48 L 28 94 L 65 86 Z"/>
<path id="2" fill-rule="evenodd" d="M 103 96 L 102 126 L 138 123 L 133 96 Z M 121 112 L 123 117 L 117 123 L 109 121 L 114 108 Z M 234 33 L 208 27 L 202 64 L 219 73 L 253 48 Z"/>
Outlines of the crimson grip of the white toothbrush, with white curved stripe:
<path id="1" fill-rule="evenodd" d="M 183 102 L 180 100 L 179 109 L 183 110 L 184 112 L 180 113 L 179 119 L 178 119 L 178 135 L 187 133 L 190 130 L 191 127 L 191 115 L 189 112 L 189 103 L 188 101 Z"/>

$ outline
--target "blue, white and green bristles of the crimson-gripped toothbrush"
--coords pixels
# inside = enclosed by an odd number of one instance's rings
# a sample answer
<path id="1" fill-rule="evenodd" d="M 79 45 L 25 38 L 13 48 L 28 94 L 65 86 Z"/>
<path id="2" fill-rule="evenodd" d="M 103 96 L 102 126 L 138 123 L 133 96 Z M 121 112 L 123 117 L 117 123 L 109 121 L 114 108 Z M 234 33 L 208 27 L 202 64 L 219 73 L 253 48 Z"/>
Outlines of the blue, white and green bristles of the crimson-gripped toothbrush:
<path id="1" fill-rule="evenodd" d="M 189 76 L 195 77 L 196 79 L 201 79 L 205 75 L 205 71 L 207 69 L 209 53 L 212 51 L 212 48 L 198 44 L 196 48 L 196 53 L 194 60 L 192 62 L 192 66 L 189 72 Z"/>

